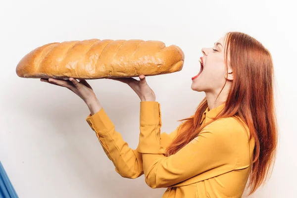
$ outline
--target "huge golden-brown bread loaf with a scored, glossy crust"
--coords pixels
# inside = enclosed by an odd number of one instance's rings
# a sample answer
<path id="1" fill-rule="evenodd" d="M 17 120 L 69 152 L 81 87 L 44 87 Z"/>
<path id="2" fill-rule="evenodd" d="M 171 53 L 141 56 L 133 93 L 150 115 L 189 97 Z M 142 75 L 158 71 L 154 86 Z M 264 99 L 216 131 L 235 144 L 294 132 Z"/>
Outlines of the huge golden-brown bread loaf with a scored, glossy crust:
<path id="1" fill-rule="evenodd" d="M 184 53 L 160 41 L 84 40 L 51 43 L 32 50 L 16 67 L 23 78 L 99 79 L 180 71 Z"/>

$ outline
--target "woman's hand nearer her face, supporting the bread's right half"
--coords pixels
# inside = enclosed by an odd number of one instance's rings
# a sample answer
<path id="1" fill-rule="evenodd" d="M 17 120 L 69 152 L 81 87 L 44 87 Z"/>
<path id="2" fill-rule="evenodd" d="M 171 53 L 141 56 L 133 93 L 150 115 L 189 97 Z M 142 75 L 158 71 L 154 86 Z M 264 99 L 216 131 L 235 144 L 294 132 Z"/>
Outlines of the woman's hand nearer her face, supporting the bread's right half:
<path id="1" fill-rule="evenodd" d="M 106 79 L 112 79 L 112 80 L 126 83 L 134 90 L 134 92 L 139 96 L 141 101 L 155 101 L 155 94 L 152 91 L 152 89 L 150 89 L 150 87 L 148 86 L 145 75 L 140 75 L 139 76 L 140 80 L 136 80 L 132 77 L 131 78 L 106 78 Z"/>

